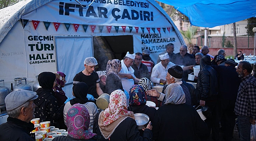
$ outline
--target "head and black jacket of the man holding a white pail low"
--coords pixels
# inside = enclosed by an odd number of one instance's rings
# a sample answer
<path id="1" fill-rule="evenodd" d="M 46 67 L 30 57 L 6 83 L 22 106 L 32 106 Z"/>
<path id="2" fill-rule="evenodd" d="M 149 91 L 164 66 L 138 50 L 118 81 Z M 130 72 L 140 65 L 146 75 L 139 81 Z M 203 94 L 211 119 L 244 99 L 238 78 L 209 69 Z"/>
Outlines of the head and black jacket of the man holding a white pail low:
<path id="1" fill-rule="evenodd" d="M 197 79 L 197 100 L 215 100 L 218 96 L 218 75 L 211 67 L 211 58 L 206 55 L 200 60 L 200 72 Z"/>

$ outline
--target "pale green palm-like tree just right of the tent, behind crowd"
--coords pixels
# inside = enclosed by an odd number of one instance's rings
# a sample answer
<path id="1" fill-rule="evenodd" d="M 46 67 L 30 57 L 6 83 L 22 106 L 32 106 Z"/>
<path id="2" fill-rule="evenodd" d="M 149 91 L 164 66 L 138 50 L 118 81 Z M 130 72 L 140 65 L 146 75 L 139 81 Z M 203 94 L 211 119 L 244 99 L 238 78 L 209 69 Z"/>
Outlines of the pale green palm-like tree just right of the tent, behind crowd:
<path id="1" fill-rule="evenodd" d="M 195 34 L 197 33 L 197 29 L 198 29 L 198 27 L 191 26 L 191 27 L 188 27 L 187 31 L 180 30 L 180 33 L 188 42 L 187 49 L 188 49 L 189 53 L 192 53 L 192 49 L 194 46 L 192 43 L 192 39 L 194 38 Z"/>

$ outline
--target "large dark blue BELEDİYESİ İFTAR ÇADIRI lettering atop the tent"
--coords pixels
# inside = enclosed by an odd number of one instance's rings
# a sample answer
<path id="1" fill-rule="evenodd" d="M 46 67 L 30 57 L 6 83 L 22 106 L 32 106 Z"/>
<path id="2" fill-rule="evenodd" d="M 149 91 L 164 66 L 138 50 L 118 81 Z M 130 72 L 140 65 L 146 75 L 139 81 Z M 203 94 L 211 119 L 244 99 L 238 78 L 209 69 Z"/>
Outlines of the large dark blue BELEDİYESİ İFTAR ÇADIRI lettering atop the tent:
<path id="1" fill-rule="evenodd" d="M 133 1 L 129 1 L 133 2 Z M 123 0 L 115 0 L 114 4 L 123 5 Z M 148 8 L 148 3 L 144 2 L 134 2 L 134 5 L 140 5 L 138 7 L 144 7 Z M 86 5 L 83 5 L 84 7 Z M 85 11 L 86 10 L 86 11 Z M 121 11 L 122 10 L 122 11 Z M 111 16 L 115 18 L 117 21 L 119 18 L 121 19 L 127 19 L 127 20 L 141 20 L 141 21 L 154 21 L 154 14 L 152 11 L 136 11 L 132 9 L 119 9 L 119 8 L 113 8 L 111 10 Z M 69 4 L 64 2 L 59 2 L 59 15 L 65 15 L 69 16 L 70 13 L 77 13 L 79 16 L 90 17 L 93 16 L 95 18 L 108 18 L 108 9 L 106 7 L 97 7 L 97 9 L 94 9 L 93 6 L 89 6 L 87 9 L 84 9 L 79 4 Z M 98 11 L 98 12 L 96 12 Z"/>

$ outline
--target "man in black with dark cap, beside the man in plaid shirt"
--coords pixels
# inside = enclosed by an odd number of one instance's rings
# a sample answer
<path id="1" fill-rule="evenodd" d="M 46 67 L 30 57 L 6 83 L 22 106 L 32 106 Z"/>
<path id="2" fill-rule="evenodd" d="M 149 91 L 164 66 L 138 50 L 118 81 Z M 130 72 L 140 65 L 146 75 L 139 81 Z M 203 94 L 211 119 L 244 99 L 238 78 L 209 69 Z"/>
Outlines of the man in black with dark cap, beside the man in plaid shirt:
<path id="1" fill-rule="evenodd" d="M 236 122 L 234 108 L 241 81 L 236 72 L 236 65 L 237 63 L 233 59 L 228 59 L 225 65 L 212 66 L 218 73 L 219 101 L 221 106 L 217 110 L 217 115 L 219 115 L 221 120 L 221 128 L 224 132 L 223 138 L 226 141 L 232 139 Z"/>

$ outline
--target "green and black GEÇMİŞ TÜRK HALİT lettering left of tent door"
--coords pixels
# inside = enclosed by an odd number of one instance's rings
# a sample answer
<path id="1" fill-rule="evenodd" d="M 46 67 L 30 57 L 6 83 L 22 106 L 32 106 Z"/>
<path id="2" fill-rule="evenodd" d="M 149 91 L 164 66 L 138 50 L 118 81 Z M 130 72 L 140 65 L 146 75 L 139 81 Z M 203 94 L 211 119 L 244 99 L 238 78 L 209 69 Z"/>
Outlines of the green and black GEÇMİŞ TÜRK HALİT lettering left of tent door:
<path id="1" fill-rule="evenodd" d="M 34 41 L 36 43 L 28 43 L 28 47 L 30 47 L 30 51 L 43 51 L 43 53 L 38 54 L 28 54 L 30 65 L 31 64 L 40 64 L 40 63 L 55 63 L 54 53 L 50 53 L 48 51 L 54 51 L 53 36 L 28 36 L 28 40 Z M 40 42 L 38 42 L 40 41 Z M 51 43 L 43 43 L 43 42 L 51 42 Z M 37 61 L 33 61 L 37 60 Z"/>

